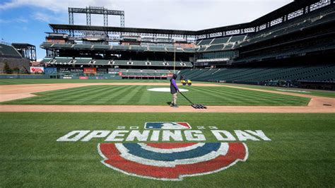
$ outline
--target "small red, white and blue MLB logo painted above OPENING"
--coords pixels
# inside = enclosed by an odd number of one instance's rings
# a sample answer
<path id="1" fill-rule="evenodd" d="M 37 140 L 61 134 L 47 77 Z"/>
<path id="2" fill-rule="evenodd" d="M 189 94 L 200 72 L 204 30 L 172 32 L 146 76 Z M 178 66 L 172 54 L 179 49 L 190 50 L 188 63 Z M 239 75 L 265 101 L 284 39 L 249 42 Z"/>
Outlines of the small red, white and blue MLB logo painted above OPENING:
<path id="1" fill-rule="evenodd" d="M 187 122 L 146 122 L 144 129 L 192 129 Z"/>

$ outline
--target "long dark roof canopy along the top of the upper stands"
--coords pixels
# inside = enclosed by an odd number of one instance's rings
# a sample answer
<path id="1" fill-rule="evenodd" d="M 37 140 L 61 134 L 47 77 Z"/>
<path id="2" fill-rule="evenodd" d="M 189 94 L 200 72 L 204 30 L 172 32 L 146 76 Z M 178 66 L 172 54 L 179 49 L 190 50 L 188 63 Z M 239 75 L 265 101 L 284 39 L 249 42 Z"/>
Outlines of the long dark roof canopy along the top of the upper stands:
<path id="1" fill-rule="evenodd" d="M 141 33 L 141 34 L 154 34 L 158 36 L 176 36 L 176 37 L 196 37 L 196 38 L 208 38 L 211 37 L 213 33 L 221 33 L 226 31 L 239 30 L 237 34 L 244 34 L 247 31 L 257 31 L 257 27 L 260 25 L 266 25 L 265 27 L 270 27 L 270 22 L 276 20 L 278 18 L 283 18 L 283 16 L 288 16 L 290 13 L 294 13 L 295 11 L 302 10 L 304 13 L 306 11 L 306 7 L 319 2 L 318 0 L 295 0 L 286 6 L 282 6 L 281 8 L 272 11 L 271 13 L 262 16 L 261 18 L 257 18 L 249 23 L 241 23 L 236 25 L 228 25 L 218 28 L 208 28 L 205 30 L 169 30 L 169 29 L 152 29 L 152 28 L 120 28 L 120 27 L 107 27 L 107 26 L 91 26 L 91 25 L 66 25 L 66 24 L 49 24 L 50 28 L 55 33 L 59 32 L 69 32 L 74 33 L 81 31 L 102 31 L 102 32 L 110 32 L 112 34 L 122 34 L 122 33 Z M 334 2 L 331 1 L 331 4 Z M 203 35 L 202 37 L 200 37 Z"/>

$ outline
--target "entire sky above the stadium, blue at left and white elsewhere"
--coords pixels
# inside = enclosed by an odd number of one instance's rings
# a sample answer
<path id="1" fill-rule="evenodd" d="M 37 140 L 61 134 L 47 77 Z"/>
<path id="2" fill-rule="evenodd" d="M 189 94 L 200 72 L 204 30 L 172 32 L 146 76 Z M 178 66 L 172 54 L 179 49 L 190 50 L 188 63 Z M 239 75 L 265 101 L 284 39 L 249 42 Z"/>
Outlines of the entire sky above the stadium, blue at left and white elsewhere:
<path id="1" fill-rule="evenodd" d="M 37 59 L 45 57 L 40 44 L 49 23 L 68 24 L 68 7 L 104 6 L 124 11 L 125 27 L 202 30 L 246 23 L 289 4 L 293 0 L 1 0 L 1 42 L 30 43 Z M 109 16 L 119 26 L 119 16 Z M 102 15 L 91 16 L 92 25 L 103 25 Z M 75 25 L 86 25 L 86 14 L 74 14 Z"/>

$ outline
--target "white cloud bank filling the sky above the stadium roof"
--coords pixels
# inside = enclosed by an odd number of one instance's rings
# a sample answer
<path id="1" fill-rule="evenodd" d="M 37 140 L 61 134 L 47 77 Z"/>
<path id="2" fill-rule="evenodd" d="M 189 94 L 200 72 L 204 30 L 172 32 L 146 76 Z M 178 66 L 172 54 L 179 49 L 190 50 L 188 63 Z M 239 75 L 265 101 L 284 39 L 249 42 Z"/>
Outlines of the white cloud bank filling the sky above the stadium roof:
<path id="1" fill-rule="evenodd" d="M 276 10 L 293 0 L 10 0 L 0 11 L 21 6 L 37 9 L 33 18 L 46 23 L 68 23 L 68 7 L 105 6 L 125 11 L 125 26 L 201 30 L 245 23 Z M 92 16 L 92 25 L 102 25 L 102 16 Z M 119 26 L 118 16 L 109 25 Z M 0 20 L 1 22 L 1 20 Z M 74 14 L 74 23 L 86 25 L 85 14 Z"/>

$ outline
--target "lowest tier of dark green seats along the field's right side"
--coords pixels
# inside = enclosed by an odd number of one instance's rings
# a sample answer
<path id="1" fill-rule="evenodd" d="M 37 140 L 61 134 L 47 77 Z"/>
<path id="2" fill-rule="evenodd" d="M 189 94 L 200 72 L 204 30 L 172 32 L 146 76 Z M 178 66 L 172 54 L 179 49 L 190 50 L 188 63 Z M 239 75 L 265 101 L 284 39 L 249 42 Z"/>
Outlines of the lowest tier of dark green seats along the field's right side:
<path id="1" fill-rule="evenodd" d="M 192 69 L 182 70 L 179 74 L 194 81 L 225 81 L 253 84 L 276 80 L 334 81 L 335 65 Z"/>

